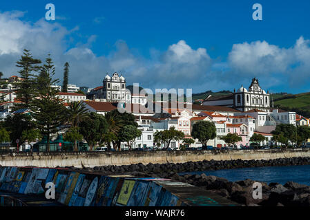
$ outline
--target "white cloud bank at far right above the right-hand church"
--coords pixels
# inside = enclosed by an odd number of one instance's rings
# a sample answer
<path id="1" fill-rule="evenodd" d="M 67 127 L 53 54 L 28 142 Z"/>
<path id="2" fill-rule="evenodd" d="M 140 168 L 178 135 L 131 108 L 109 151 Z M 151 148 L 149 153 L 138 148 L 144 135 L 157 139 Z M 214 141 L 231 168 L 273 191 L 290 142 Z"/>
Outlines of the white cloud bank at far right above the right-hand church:
<path id="1" fill-rule="evenodd" d="M 234 74 L 241 76 L 272 78 L 281 74 L 282 80 L 273 83 L 289 81 L 291 87 L 295 87 L 310 77 L 309 43 L 300 36 L 289 48 L 280 48 L 266 41 L 235 44 L 229 53 L 229 66 Z"/>

